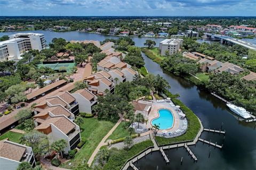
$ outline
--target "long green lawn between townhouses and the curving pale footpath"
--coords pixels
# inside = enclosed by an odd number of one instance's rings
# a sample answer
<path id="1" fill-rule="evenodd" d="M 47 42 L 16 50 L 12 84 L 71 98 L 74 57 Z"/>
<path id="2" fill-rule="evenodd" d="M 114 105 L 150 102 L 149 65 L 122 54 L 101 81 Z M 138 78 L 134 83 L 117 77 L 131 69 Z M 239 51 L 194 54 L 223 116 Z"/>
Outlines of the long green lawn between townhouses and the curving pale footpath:
<path id="1" fill-rule="evenodd" d="M 97 118 L 84 118 L 84 124 L 81 127 L 83 129 L 81 132 L 81 138 L 84 137 L 86 139 L 86 143 L 81 150 L 77 152 L 74 159 L 61 164 L 61 167 L 74 168 L 83 161 L 87 162 L 102 138 L 105 137 L 114 125 L 115 123 L 99 121 Z M 69 163 L 71 163 L 70 166 L 68 165 Z"/>

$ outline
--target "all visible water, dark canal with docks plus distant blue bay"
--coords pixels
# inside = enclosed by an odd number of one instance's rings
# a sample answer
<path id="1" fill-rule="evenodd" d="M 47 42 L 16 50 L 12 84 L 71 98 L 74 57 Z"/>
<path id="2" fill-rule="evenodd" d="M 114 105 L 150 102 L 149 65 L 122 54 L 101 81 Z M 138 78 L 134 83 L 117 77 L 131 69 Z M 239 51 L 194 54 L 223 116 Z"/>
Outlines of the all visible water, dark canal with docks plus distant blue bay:
<path id="1" fill-rule="evenodd" d="M 99 40 L 105 38 L 118 38 L 115 36 L 103 36 L 85 32 L 52 32 L 52 31 L 27 31 L 44 33 L 47 43 L 53 38 L 65 38 L 66 40 Z M 0 37 L 3 35 L 11 35 L 17 32 L 0 32 Z M 154 39 L 158 45 L 163 38 L 138 38 L 132 37 L 135 45 L 142 47 L 146 39 Z M 254 41 L 255 39 L 246 39 Z M 198 40 L 200 41 L 200 40 Z M 202 40 L 203 41 L 203 40 Z M 256 43 L 255 43 L 256 44 Z M 226 130 L 226 139 L 224 147 L 214 149 L 198 142 L 196 148 L 190 147 L 198 158 L 197 163 L 193 163 L 188 154 L 179 148 L 166 151 L 167 157 L 170 159 L 170 164 L 165 165 L 164 159 L 159 152 L 154 152 L 148 155 L 146 159 L 139 160 L 135 164 L 140 169 L 256 169 L 256 124 L 237 121 L 237 118 L 232 114 L 226 105 L 219 99 L 213 97 L 209 93 L 198 89 L 194 84 L 180 77 L 175 77 L 172 74 L 166 73 L 157 64 L 143 55 L 146 67 L 150 73 L 159 74 L 166 79 L 173 94 L 180 94 L 180 100 L 185 103 L 196 115 L 201 118 L 205 128 Z M 202 139 L 211 140 L 213 143 L 218 142 L 222 145 L 223 135 L 203 132 Z M 210 158 L 209 157 L 209 153 Z M 183 163 L 180 164 L 181 157 Z"/>

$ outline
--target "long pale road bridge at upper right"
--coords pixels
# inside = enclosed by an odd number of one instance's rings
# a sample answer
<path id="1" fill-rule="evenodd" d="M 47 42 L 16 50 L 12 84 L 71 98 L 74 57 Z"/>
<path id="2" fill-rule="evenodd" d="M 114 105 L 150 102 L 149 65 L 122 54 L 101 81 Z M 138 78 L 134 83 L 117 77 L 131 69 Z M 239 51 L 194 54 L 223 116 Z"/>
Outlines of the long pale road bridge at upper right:
<path id="1" fill-rule="evenodd" d="M 226 44 L 229 46 L 233 46 L 233 45 L 237 44 L 237 45 L 241 45 L 243 47 L 249 48 L 249 49 L 256 50 L 256 45 L 251 44 L 247 41 L 239 40 L 239 39 L 229 37 L 229 36 L 218 35 L 218 34 L 214 34 L 214 33 L 204 33 L 204 35 L 206 36 L 207 39 L 217 40 L 217 41 L 220 41 L 220 43 L 222 43 L 222 44 Z"/>

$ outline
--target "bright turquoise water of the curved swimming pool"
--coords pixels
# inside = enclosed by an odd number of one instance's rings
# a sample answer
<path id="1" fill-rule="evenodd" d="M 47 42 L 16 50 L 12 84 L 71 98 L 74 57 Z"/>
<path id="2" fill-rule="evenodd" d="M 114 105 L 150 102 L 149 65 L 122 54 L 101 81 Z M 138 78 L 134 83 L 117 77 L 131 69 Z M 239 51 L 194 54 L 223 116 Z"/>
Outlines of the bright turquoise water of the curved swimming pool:
<path id="1" fill-rule="evenodd" d="M 173 115 L 168 109 L 159 109 L 159 117 L 155 118 L 151 124 L 158 125 L 160 130 L 170 129 L 173 126 Z"/>

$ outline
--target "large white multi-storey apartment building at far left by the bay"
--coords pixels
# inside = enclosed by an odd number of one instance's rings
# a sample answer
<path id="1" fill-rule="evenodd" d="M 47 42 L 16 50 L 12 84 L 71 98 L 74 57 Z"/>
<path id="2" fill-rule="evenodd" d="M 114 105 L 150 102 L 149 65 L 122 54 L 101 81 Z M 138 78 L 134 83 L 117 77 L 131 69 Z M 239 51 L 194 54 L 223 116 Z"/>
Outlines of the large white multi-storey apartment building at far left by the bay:
<path id="1" fill-rule="evenodd" d="M 20 60 L 22 54 L 30 49 L 41 51 L 46 47 L 42 33 L 16 33 L 9 40 L 0 42 L 0 62 Z"/>

